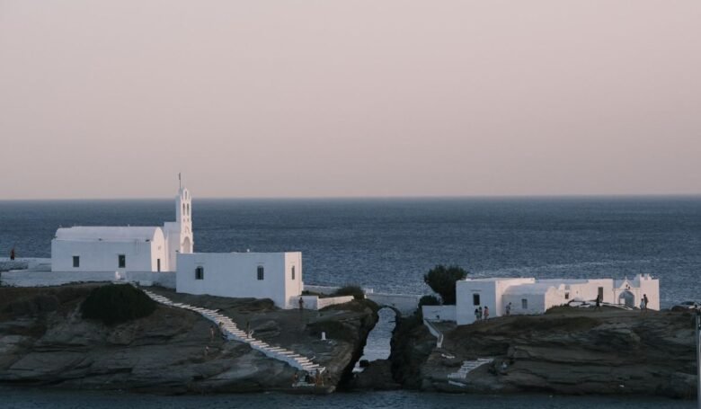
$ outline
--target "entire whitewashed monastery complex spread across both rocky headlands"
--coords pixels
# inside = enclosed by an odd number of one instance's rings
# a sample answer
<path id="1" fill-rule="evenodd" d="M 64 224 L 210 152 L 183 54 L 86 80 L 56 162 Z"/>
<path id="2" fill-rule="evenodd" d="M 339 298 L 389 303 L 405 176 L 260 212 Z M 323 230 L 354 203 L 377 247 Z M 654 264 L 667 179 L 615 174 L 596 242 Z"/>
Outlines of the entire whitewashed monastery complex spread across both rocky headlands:
<path id="1" fill-rule="evenodd" d="M 177 292 L 231 298 L 270 298 L 281 308 L 322 308 L 352 297 L 302 296 L 302 253 L 194 253 L 192 198 L 180 188 L 175 198 L 175 221 L 163 227 L 58 228 L 51 241 L 51 267 L 37 280 L 18 272 L 21 285 L 49 285 L 75 281 L 137 281 L 159 284 Z M 13 271 L 4 278 L 13 277 Z M 50 277 L 49 277 L 50 276 Z M 316 292 L 323 287 L 310 286 Z M 333 291 L 332 288 L 329 288 Z M 372 294 L 379 304 L 413 311 L 420 296 Z M 490 316 L 543 314 L 548 308 L 574 302 L 660 309 L 660 283 L 650 275 L 633 280 L 537 280 L 483 278 L 458 280 L 455 306 L 423 306 L 428 320 L 472 324 L 475 308 L 488 307 Z"/>

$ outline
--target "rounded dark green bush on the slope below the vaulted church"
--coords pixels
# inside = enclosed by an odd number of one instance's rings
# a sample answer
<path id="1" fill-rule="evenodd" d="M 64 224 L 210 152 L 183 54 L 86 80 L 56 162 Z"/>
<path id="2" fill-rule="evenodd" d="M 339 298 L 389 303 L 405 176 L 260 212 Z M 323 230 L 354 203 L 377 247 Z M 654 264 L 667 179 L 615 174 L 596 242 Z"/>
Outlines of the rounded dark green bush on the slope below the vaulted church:
<path id="1" fill-rule="evenodd" d="M 100 320 L 106 325 L 150 316 L 154 311 L 155 301 L 148 298 L 144 291 L 127 284 L 110 284 L 93 289 L 81 307 L 84 318 Z"/>

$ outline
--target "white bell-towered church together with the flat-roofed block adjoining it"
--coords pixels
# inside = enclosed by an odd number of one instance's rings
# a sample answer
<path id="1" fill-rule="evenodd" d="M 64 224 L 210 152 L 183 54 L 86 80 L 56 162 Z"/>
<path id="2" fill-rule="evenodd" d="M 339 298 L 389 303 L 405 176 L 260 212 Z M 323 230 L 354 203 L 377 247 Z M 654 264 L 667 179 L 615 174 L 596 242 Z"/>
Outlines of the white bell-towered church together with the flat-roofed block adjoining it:
<path id="1" fill-rule="evenodd" d="M 51 241 L 51 277 L 40 281 L 138 281 L 180 293 L 271 298 L 277 307 L 297 306 L 304 289 L 302 253 L 193 253 L 191 216 L 190 191 L 181 187 L 175 221 L 163 227 L 58 228 Z"/>

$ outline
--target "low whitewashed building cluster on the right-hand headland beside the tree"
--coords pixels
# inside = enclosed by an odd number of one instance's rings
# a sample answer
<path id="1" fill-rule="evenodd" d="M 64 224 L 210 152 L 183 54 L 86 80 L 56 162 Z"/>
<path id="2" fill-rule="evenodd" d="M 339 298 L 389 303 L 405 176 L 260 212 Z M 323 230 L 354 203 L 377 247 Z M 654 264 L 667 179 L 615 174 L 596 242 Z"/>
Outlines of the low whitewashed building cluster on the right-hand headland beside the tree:
<path id="1" fill-rule="evenodd" d="M 503 316 L 510 304 L 510 314 L 543 314 L 550 307 L 572 300 L 602 302 L 638 307 L 647 295 L 648 308 L 660 309 L 660 281 L 649 274 L 633 280 L 536 280 L 466 279 L 456 286 L 457 325 L 475 322 L 475 308 L 489 307 L 490 316 Z"/>

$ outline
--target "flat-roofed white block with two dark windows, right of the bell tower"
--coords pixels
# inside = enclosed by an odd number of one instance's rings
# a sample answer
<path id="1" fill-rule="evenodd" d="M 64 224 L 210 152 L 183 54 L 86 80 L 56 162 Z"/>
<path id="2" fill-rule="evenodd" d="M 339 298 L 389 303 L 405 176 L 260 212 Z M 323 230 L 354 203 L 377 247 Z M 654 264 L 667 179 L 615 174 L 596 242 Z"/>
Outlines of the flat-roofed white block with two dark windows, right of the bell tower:
<path id="1" fill-rule="evenodd" d="M 302 294 L 302 253 L 181 253 L 177 292 L 232 298 L 271 298 L 297 307 Z"/>

